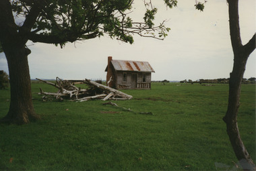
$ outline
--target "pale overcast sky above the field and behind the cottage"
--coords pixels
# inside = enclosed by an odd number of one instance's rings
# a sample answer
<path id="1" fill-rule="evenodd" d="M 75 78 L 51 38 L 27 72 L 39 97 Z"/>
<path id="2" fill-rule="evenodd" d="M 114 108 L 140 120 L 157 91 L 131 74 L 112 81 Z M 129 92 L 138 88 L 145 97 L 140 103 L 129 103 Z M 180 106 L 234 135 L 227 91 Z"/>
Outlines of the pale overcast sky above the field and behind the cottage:
<path id="1" fill-rule="evenodd" d="M 209 0 L 203 12 L 195 1 L 179 0 L 178 7 L 166 9 L 163 1 L 152 1 L 158 8 L 156 24 L 167 20 L 170 32 L 165 40 L 134 36 L 134 44 L 108 36 L 67 44 L 61 49 L 52 44 L 28 42 L 31 78 L 106 79 L 107 57 L 115 60 L 148 61 L 156 73 L 152 80 L 197 80 L 228 78 L 233 53 L 226 0 Z M 241 38 L 246 44 L 256 32 L 256 1 L 239 1 Z M 143 0 L 135 0 L 133 21 L 143 21 Z M 32 46 L 30 46 L 32 45 Z M 256 52 L 249 57 L 244 78 L 256 76 Z M 0 70 L 8 72 L 0 54 Z"/>

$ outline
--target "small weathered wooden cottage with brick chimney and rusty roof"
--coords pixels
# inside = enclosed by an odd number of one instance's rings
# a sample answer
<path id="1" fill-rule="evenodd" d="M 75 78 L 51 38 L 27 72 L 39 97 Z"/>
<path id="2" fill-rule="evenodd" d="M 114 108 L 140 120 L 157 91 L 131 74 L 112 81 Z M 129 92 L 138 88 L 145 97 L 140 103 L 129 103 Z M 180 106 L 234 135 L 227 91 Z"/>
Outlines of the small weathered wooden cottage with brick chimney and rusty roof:
<path id="1" fill-rule="evenodd" d="M 113 60 L 108 56 L 106 84 L 114 89 L 151 89 L 151 72 L 148 62 Z"/>

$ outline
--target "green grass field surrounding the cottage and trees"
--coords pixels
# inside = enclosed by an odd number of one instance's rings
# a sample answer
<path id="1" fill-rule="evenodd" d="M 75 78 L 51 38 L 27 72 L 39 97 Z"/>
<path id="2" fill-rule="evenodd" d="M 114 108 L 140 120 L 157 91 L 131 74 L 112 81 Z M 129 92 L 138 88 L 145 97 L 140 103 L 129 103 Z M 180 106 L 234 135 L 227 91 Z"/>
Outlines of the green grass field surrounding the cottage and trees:
<path id="1" fill-rule="evenodd" d="M 32 84 L 42 119 L 0 125 L 0 170 L 232 170 L 236 157 L 222 117 L 228 85 L 152 83 L 152 90 L 126 90 L 129 101 L 42 102 Z M 9 91 L 0 91 L 0 117 Z M 243 84 L 238 115 L 241 137 L 255 161 L 255 84 Z"/>

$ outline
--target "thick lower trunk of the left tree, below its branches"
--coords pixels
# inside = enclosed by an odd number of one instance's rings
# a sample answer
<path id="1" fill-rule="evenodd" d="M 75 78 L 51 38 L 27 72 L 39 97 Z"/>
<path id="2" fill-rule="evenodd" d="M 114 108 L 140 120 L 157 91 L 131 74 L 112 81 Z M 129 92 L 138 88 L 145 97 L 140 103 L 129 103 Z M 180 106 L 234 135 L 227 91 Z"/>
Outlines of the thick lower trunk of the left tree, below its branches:
<path id="1" fill-rule="evenodd" d="M 5 47 L 5 56 L 9 67 L 11 102 L 9 111 L 2 123 L 24 124 L 40 117 L 34 112 L 28 54 L 30 50 L 23 47 Z"/>

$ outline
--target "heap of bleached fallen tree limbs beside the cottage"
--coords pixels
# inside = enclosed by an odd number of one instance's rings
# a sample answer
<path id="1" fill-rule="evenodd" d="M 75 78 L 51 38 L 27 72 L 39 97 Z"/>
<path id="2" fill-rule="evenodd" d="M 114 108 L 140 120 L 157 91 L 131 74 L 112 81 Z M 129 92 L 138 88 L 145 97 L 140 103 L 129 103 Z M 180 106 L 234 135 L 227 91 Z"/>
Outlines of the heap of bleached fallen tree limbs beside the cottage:
<path id="1" fill-rule="evenodd" d="M 89 86 L 88 89 L 78 88 L 68 80 L 62 80 L 59 77 L 56 78 L 55 83 L 42 80 L 39 78 L 36 78 L 36 80 L 40 80 L 42 82 L 45 82 L 46 84 L 49 84 L 59 89 L 57 93 L 46 93 L 42 91 L 42 89 L 40 88 L 39 94 L 44 95 L 42 97 L 43 101 L 48 101 L 50 99 L 57 99 L 59 101 L 63 101 L 63 99 L 69 99 L 70 101 L 82 102 L 91 99 L 101 99 L 102 101 L 106 101 L 127 100 L 133 98 L 131 95 L 127 95 L 121 91 L 118 91 L 110 87 L 106 87 L 103 84 L 99 84 L 88 79 L 82 81 L 84 82 L 84 84 L 87 84 Z"/>

